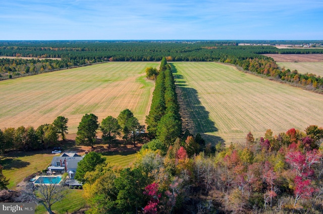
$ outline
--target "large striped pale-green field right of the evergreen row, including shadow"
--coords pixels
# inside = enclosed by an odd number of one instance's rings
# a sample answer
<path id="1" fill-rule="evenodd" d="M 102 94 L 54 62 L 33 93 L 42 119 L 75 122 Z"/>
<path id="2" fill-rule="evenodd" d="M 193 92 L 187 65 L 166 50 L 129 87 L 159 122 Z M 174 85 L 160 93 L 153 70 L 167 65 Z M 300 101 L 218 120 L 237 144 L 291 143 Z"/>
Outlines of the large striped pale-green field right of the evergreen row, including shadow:
<path id="1" fill-rule="evenodd" d="M 245 74 L 217 63 L 172 63 L 194 132 L 207 141 L 245 142 L 290 128 L 323 126 L 323 95 Z"/>

